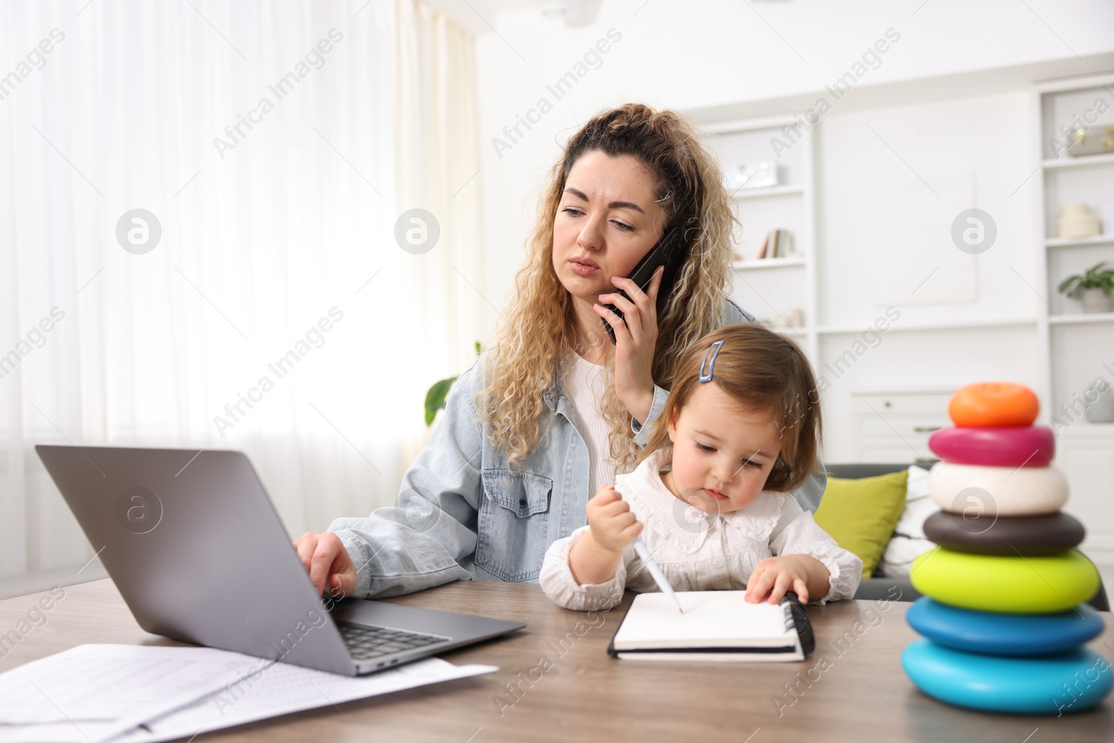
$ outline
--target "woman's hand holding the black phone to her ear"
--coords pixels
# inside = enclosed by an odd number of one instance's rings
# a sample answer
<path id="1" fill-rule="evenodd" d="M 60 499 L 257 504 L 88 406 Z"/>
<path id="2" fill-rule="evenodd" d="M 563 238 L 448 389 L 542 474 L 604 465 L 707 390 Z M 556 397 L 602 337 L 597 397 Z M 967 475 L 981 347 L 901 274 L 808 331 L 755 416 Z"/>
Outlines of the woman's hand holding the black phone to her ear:
<path id="1" fill-rule="evenodd" d="M 612 276 L 618 293 L 600 294 L 596 314 L 615 331 L 615 393 L 635 420 L 646 422 L 654 403 L 654 346 L 657 344 L 657 290 L 662 284 L 663 266 L 654 272 L 649 286 L 643 292 L 638 285 L 623 276 Z M 614 304 L 623 312 L 623 320 L 605 304 Z"/>

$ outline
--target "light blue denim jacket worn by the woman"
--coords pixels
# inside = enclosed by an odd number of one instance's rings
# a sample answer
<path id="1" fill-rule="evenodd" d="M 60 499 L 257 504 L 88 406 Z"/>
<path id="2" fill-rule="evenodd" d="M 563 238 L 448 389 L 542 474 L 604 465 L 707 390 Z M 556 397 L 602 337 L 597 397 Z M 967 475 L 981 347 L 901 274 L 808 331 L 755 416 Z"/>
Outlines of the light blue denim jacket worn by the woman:
<path id="1" fill-rule="evenodd" d="M 724 324 L 736 322 L 754 317 L 729 300 Z M 353 596 L 398 596 L 471 578 L 534 583 L 549 545 L 587 522 L 588 448 L 559 374 L 544 393 L 544 433 L 511 471 L 475 404 L 486 385 L 486 356 L 453 383 L 441 420 L 402 477 L 398 506 L 329 526 L 355 565 Z M 646 423 L 661 417 L 667 397 L 654 387 Z M 651 427 L 632 420 L 632 430 L 646 446 Z M 792 495 L 814 511 L 825 485 L 818 473 Z"/>

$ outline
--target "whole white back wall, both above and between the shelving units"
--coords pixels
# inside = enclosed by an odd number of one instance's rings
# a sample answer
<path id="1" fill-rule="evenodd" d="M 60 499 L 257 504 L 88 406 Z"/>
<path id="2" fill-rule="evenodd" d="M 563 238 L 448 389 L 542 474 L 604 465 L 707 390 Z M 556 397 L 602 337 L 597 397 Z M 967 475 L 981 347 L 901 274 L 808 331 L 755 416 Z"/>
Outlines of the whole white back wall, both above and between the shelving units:
<path id="1" fill-rule="evenodd" d="M 1030 11 L 1010 0 L 922 6 L 920 0 L 794 0 L 682 9 L 662 0 L 606 0 L 592 27 L 575 30 L 534 10 L 502 13 L 491 19 L 498 35 L 485 35 L 477 45 L 479 177 L 490 267 L 482 291 L 501 306 L 521 264 L 538 188 L 559 144 L 593 113 L 628 100 L 687 110 L 703 121 L 799 110 L 893 29 L 900 38 L 877 69 L 862 76 L 818 129 L 820 325 L 866 327 L 881 313 L 885 303 L 876 301 L 874 286 L 887 277 L 874 276 L 872 268 L 874 184 L 920 178 L 940 194 L 926 188 L 922 197 L 929 201 L 947 201 L 957 179 L 969 182 L 970 206 L 995 216 L 998 242 L 977 258 L 944 264 L 917 297 L 899 305 L 895 327 L 1034 316 L 1038 300 L 1025 282 L 1033 284 L 1036 203 L 1032 188 L 1018 189 L 1032 173 L 1026 85 L 1092 71 L 1108 65 L 1114 52 L 1114 6 L 1076 2 L 1068 12 L 1064 4 L 1029 2 Z M 600 56 L 597 69 L 589 67 L 556 99 L 546 86 L 573 70 L 608 29 L 622 38 Z M 522 136 L 511 144 L 504 127 L 541 98 L 554 109 L 529 130 L 520 126 Z M 510 148 L 497 153 L 496 137 Z M 930 257 L 905 257 L 908 275 L 896 278 L 907 281 L 905 291 L 911 293 Z M 905 265 L 905 257 L 896 264 Z M 932 299 L 934 291 L 937 301 L 919 302 Z M 495 319 L 490 312 L 489 326 Z M 853 338 L 823 335 L 819 364 Z M 851 391 L 995 378 L 1036 385 L 1036 344 L 1032 327 L 891 331 L 825 397 L 828 460 L 850 459 Z"/>

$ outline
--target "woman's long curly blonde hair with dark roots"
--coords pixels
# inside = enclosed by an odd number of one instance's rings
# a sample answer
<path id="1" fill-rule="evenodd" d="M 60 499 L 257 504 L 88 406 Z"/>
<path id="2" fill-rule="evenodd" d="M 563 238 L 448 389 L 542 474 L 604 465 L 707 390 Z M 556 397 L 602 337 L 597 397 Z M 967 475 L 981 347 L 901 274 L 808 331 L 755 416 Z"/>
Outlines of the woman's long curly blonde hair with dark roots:
<path id="1" fill-rule="evenodd" d="M 527 242 L 526 264 L 515 276 L 511 311 L 497 332 L 485 366 L 485 387 L 476 398 L 489 427 L 491 444 L 511 469 L 538 443 L 547 420 L 545 393 L 560 374 L 564 354 L 576 344 L 573 297 L 553 265 L 554 219 L 568 174 L 590 151 L 628 155 L 654 175 L 655 197 L 666 215 L 665 229 L 680 225 L 685 245 L 670 256 L 657 294 L 657 344 L 653 377 L 670 389 L 680 354 L 721 324 L 731 292 L 732 233 L 737 219 L 723 186 L 716 156 L 695 127 L 671 110 L 626 104 L 597 114 L 565 146 L 538 204 Z M 664 231 L 663 231 L 663 234 Z M 599 338 L 603 338 L 600 326 Z M 608 449 L 616 472 L 629 471 L 639 453 L 631 431 L 631 413 L 615 393 L 615 354 L 607 349 L 607 385 L 600 413 L 610 426 Z M 590 493 L 589 493 L 590 495 Z"/>

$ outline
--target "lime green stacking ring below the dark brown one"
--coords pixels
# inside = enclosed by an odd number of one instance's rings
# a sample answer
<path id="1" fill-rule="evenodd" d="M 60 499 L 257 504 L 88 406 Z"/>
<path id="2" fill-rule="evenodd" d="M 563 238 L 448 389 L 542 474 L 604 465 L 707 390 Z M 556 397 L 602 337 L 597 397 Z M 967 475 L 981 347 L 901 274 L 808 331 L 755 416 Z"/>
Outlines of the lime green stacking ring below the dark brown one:
<path id="1" fill-rule="evenodd" d="M 1098 570 L 1077 549 L 1046 557 L 968 555 L 944 547 L 912 561 L 913 588 L 976 612 L 1067 612 L 1098 592 Z"/>

